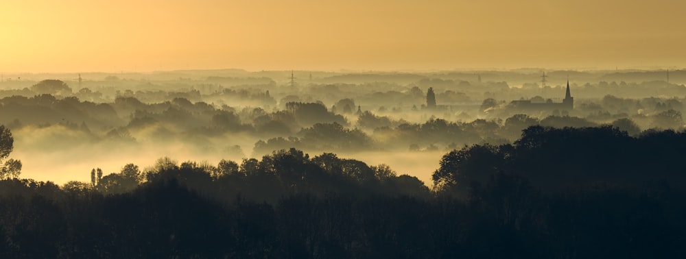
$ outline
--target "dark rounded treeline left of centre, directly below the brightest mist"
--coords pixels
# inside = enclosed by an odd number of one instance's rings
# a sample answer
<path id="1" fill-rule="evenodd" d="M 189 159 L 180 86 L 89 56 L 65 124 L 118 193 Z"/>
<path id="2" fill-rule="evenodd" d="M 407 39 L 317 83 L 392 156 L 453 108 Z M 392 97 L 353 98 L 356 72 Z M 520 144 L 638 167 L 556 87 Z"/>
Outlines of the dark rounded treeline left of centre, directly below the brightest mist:
<path id="1" fill-rule="evenodd" d="M 142 171 L 127 164 L 120 173 L 102 175 L 91 171 L 91 182 L 68 182 L 64 188 L 93 189 L 104 195 L 127 193 L 139 184 L 175 180 L 206 197 L 233 200 L 237 195 L 256 201 L 276 202 L 298 193 L 322 196 L 327 193 L 350 195 L 410 195 L 427 198 L 429 188 L 416 177 L 397 175 L 386 164 L 365 162 L 322 153 L 310 158 L 298 149 L 282 149 L 261 160 L 244 158 L 241 163 L 221 160 L 216 166 L 193 161 L 160 158 Z"/>

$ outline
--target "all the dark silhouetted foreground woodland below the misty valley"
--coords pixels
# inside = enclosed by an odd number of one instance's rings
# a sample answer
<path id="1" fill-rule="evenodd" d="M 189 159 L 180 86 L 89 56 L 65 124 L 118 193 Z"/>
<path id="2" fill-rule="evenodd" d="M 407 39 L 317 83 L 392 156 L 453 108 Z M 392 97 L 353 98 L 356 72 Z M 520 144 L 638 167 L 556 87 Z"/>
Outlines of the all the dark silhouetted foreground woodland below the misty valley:
<path id="1" fill-rule="evenodd" d="M 126 190 L 134 167 L 62 188 L 3 180 L 0 258 L 685 258 L 681 143 L 531 127 L 514 145 L 447 154 L 434 192 L 296 149 L 220 173 L 161 160 Z M 659 164 L 616 157 L 632 153 Z"/>

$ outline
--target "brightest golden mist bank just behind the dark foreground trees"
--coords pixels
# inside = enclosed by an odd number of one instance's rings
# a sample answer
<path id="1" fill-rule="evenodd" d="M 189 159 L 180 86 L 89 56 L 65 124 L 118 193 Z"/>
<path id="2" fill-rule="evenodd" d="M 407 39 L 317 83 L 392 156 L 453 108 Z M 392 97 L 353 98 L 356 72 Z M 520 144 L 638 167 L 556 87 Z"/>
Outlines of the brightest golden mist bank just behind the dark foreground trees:
<path id="1" fill-rule="evenodd" d="M 26 126 L 15 129 L 12 157 L 23 162 L 23 177 L 64 184 L 75 180 L 88 182 L 91 169 L 100 168 L 106 174 L 117 173 L 125 164 L 133 163 L 145 169 L 158 158 L 168 157 L 178 162 L 208 162 L 244 158 L 261 158 L 269 153 L 252 153 L 258 140 L 248 134 L 226 134 L 214 138 L 202 136 L 180 139 L 160 138 L 154 130 L 145 129 L 128 138 L 89 139 L 84 132 L 69 130 L 63 125 Z M 242 147 L 246 147 L 244 149 Z M 283 147 L 287 149 L 288 147 Z M 326 150 L 314 151 L 317 156 Z M 329 150 L 329 152 L 331 152 Z M 400 174 L 413 175 L 429 184 L 431 173 L 445 151 L 342 151 L 340 158 L 361 160 L 369 165 L 388 164 Z"/>

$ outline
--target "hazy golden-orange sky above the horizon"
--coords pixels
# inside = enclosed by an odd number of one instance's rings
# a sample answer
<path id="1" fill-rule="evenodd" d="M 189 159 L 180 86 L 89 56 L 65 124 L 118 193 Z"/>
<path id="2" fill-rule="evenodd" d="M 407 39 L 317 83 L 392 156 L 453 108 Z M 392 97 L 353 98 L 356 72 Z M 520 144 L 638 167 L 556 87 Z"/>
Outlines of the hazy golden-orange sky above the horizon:
<path id="1" fill-rule="evenodd" d="M 0 72 L 686 66 L 686 1 L 3 0 Z"/>

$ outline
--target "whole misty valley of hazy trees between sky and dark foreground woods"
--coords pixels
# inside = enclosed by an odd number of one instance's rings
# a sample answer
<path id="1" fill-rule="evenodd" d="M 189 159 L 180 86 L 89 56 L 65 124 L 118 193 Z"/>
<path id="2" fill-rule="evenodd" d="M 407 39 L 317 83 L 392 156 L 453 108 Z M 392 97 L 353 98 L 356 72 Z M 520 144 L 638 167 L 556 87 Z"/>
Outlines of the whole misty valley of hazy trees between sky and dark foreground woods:
<path id="1" fill-rule="evenodd" d="M 22 177 L 58 184 L 88 182 L 94 168 L 145 169 L 163 157 L 240 164 L 294 147 L 388 164 L 429 185 L 445 153 L 511 143 L 531 125 L 611 125 L 630 136 L 684 125 L 685 71 L 670 71 L 670 82 L 659 73 L 576 71 L 571 110 L 548 108 L 565 97 L 565 71 L 547 72 L 545 87 L 532 71 L 298 71 L 309 78 L 298 82 L 284 71 L 229 72 L 0 82 L 0 123 L 12 130 Z"/>

